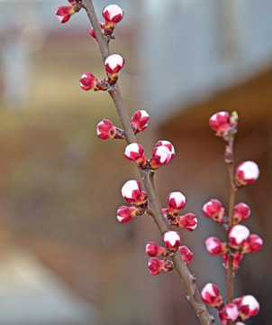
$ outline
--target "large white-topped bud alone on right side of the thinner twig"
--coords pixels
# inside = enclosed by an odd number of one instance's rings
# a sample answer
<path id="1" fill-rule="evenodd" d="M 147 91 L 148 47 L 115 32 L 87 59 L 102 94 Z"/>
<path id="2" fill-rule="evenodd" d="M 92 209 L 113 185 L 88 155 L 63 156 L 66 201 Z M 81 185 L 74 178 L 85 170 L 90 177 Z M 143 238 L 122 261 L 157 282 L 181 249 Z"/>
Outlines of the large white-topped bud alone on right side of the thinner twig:
<path id="1" fill-rule="evenodd" d="M 258 179 L 258 164 L 254 162 L 244 162 L 236 169 L 235 183 L 237 186 L 251 184 Z"/>

